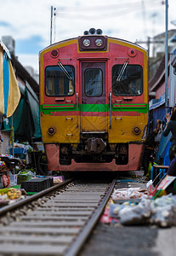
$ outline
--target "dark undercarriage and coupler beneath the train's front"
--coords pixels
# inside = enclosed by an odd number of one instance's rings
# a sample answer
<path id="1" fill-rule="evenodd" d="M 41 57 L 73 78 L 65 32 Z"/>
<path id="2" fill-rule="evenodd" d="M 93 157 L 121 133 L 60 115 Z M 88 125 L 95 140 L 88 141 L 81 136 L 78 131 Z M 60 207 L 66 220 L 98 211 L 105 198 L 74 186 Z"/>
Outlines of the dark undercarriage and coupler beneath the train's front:
<path id="1" fill-rule="evenodd" d="M 76 163 L 110 163 L 128 164 L 128 143 L 107 143 L 107 133 L 83 133 L 81 143 L 60 143 L 60 165 Z"/>

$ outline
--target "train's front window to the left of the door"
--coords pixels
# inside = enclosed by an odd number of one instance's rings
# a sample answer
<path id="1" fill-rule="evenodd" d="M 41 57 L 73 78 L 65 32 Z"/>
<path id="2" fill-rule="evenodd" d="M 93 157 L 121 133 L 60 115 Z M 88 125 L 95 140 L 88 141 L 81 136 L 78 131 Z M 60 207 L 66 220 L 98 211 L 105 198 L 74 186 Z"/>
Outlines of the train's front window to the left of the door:
<path id="1" fill-rule="evenodd" d="M 52 66 L 45 69 L 47 96 L 71 96 L 74 94 L 75 70 L 72 66 Z"/>

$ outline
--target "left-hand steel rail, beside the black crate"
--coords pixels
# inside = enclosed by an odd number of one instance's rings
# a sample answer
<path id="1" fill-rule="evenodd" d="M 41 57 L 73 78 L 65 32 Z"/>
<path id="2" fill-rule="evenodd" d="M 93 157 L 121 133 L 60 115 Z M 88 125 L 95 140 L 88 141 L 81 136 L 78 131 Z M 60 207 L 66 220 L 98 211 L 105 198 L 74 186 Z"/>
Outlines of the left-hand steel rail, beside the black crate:
<path id="1" fill-rule="evenodd" d="M 31 195 L 28 198 L 25 198 L 25 199 L 20 200 L 20 201 L 16 201 L 16 202 L 12 203 L 9 206 L 3 207 L 2 209 L 0 209 L 0 216 L 2 216 L 3 214 L 5 214 L 7 212 L 14 211 L 17 208 L 26 205 L 26 203 L 34 201 L 34 200 L 40 198 L 41 196 L 46 195 L 49 192 L 54 191 L 55 189 L 59 189 L 61 187 L 64 187 L 68 183 L 71 183 L 73 180 L 74 180 L 73 178 L 70 178 L 70 179 L 66 180 L 65 182 L 63 182 L 63 183 L 59 183 L 59 184 L 54 185 L 54 186 L 52 186 L 48 189 L 44 189 L 43 191 L 38 192 L 36 195 Z"/>

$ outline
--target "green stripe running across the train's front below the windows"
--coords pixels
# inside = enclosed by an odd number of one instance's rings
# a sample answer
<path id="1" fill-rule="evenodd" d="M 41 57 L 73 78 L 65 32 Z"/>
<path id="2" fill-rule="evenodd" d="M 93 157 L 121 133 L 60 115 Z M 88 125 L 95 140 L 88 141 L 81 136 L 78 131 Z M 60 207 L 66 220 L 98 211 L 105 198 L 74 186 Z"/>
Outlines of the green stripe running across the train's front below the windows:
<path id="1" fill-rule="evenodd" d="M 79 111 L 82 112 L 109 112 L 109 104 L 79 104 Z M 113 112 L 131 112 L 147 113 L 149 104 L 112 104 Z M 40 112 L 51 114 L 52 112 L 77 111 L 76 104 L 49 104 L 40 105 Z"/>

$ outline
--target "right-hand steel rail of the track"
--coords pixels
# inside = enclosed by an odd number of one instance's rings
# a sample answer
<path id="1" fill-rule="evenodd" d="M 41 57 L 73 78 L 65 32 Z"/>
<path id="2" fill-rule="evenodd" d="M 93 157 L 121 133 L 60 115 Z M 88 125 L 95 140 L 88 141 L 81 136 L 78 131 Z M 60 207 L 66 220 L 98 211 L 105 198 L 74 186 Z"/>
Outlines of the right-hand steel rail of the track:
<path id="1" fill-rule="evenodd" d="M 95 210 L 92 217 L 88 220 L 88 223 L 84 226 L 83 230 L 77 236 L 77 240 L 69 247 L 69 250 L 65 253 L 65 256 L 76 256 L 80 252 L 84 242 L 88 239 L 91 231 L 94 229 L 95 224 L 97 224 L 101 214 L 105 209 L 105 205 L 110 199 L 111 192 L 116 184 L 116 179 L 113 179 L 110 188 L 108 189 L 105 197 L 100 202 L 99 207 Z"/>

